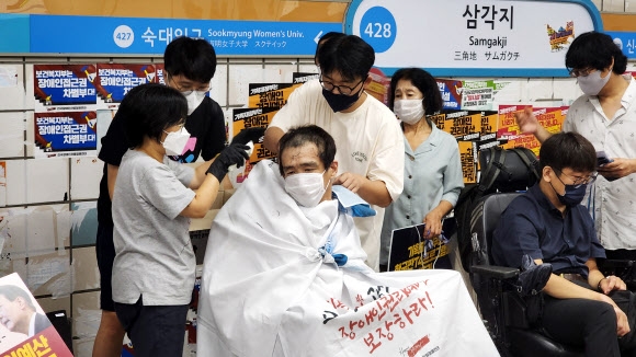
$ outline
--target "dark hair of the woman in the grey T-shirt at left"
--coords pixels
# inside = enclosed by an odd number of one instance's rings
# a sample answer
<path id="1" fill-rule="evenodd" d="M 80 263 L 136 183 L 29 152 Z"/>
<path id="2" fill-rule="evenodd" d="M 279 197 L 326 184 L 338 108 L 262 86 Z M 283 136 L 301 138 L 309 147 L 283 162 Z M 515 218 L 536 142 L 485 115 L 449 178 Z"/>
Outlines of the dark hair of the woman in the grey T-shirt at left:
<path id="1" fill-rule="evenodd" d="M 159 83 L 133 88 L 120 105 L 124 134 L 130 148 L 144 143 L 144 137 L 161 140 L 167 128 L 188 117 L 188 102 L 178 90 Z"/>

